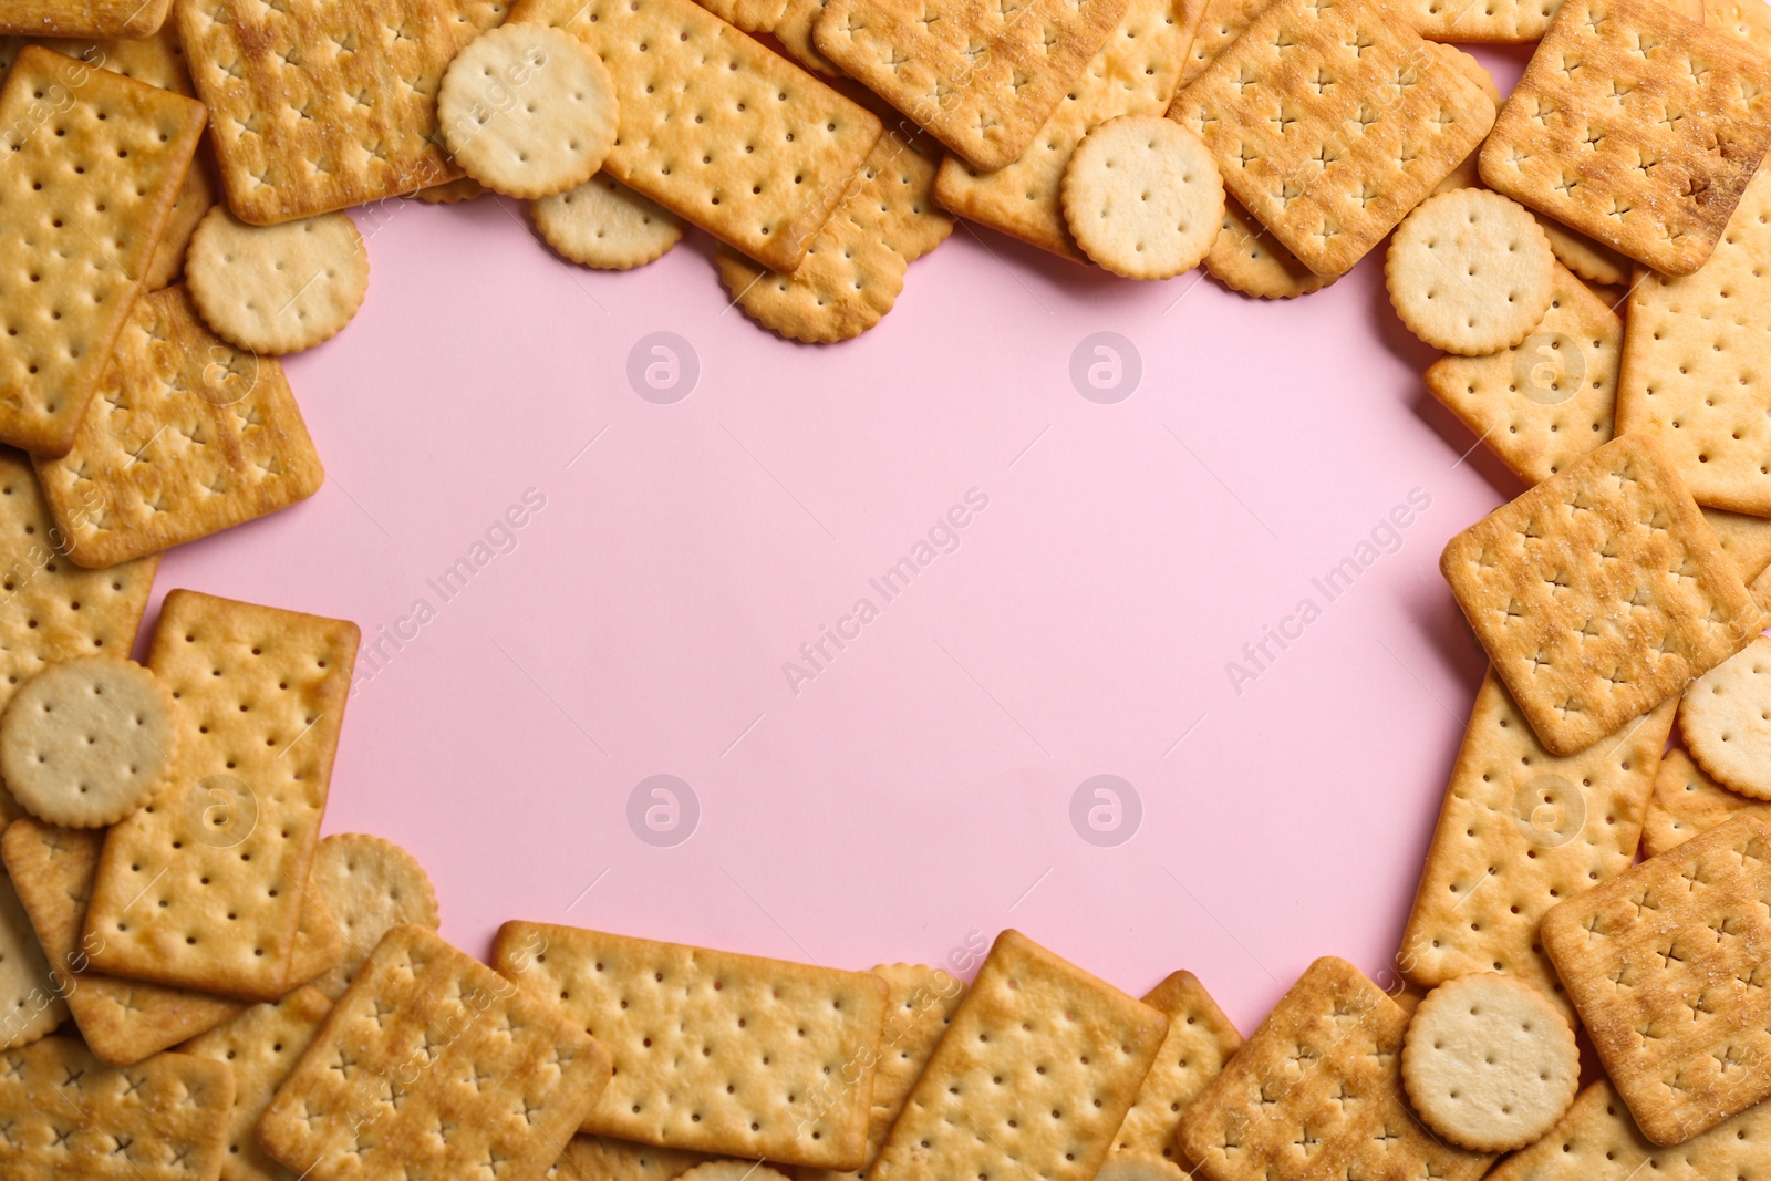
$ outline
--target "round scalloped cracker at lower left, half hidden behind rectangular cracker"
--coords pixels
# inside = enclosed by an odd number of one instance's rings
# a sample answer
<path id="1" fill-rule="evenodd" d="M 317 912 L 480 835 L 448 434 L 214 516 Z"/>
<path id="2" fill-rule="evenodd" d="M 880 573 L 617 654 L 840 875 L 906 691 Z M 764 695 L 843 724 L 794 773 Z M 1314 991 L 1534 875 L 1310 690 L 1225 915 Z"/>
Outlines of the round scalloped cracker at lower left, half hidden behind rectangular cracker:
<path id="1" fill-rule="evenodd" d="M 423 866 L 404 848 L 377 836 L 342 832 L 313 850 L 313 889 L 344 937 L 344 956 L 315 981 L 336 1000 L 381 937 L 411 924 L 437 930 L 437 896 Z"/>

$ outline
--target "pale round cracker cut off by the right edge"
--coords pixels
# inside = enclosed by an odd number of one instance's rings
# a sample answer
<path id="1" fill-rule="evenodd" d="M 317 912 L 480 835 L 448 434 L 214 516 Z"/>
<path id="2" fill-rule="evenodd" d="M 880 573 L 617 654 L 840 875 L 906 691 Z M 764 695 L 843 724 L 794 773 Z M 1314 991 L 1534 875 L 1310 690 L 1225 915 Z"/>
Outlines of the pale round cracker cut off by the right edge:
<path id="1" fill-rule="evenodd" d="M 1684 749 L 1725 788 L 1771 800 L 1771 639 L 1759 636 L 1679 701 Z"/>

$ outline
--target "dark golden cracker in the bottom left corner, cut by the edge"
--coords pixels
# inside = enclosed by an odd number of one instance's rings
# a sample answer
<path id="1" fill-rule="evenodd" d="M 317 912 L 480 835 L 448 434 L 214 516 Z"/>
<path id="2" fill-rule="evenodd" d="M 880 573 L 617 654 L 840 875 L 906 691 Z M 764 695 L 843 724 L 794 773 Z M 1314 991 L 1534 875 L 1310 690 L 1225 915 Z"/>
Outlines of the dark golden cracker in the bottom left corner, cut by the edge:
<path id="1" fill-rule="evenodd" d="M 0 1176 L 9 1181 L 193 1181 L 225 1156 L 234 1080 L 159 1054 L 104 1066 L 74 1038 L 0 1055 Z"/>

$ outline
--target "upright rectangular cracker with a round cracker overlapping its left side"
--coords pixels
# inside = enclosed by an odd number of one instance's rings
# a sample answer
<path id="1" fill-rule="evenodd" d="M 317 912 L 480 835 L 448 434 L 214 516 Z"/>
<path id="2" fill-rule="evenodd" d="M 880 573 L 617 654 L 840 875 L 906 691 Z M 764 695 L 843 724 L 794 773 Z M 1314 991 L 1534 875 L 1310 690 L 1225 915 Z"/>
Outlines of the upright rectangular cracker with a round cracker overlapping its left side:
<path id="1" fill-rule="evenodd" d="M 356 645 L 344 620 L 166 595 L 147 664 L 179 698 L 184 740 L 170 786 L 104 839 L 85 930 L 96 969 L 283 995 Z"/>

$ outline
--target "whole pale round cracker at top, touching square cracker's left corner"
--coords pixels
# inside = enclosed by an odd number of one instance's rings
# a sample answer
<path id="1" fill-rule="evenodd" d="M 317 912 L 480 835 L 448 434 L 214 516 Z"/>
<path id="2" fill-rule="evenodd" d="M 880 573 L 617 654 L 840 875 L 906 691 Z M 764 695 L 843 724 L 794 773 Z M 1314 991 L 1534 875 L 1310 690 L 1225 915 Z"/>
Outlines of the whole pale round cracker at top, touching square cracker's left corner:
<path id="1" fill-rule="evenodd" d="M 1162 115 L 1121 115 L 1077 143 L 1064 221 L 1089 259 L 1125 278 L 1172 278 L 1211 251 L 1224 179 L 1204 142 Z"/>

